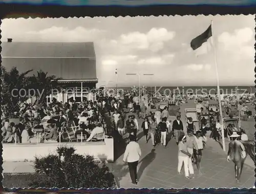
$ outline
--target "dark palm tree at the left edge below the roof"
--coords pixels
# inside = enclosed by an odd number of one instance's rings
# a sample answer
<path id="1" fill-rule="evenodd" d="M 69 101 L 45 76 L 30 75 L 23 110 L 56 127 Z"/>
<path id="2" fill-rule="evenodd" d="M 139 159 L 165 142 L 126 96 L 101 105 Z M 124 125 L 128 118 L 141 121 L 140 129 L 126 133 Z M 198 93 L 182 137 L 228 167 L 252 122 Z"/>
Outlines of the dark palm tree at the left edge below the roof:
<path id="1" fill-rule="evenodd" d="M 24 73 L 19 73 L 17 68 L 12 68 L 7 72 L 2 67 L 2 97 L 4 105 L 7 105 L 8 112 L 13 113 L 18 111 L 18 103 L 26 101 L 29 96 L 26 94 L 29 87 L 28 73 L 33 70 L 28 70 Z"/>

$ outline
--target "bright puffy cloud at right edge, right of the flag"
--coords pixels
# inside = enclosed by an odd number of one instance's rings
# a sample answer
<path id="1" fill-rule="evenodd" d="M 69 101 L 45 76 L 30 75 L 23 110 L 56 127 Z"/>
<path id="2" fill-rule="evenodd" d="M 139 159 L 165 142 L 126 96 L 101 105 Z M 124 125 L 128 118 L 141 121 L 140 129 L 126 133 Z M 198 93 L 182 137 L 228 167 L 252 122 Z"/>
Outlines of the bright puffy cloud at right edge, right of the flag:
<path id="1" fill-rule="evenodd" d="M 219 37 L 220 47 L 234 54 L 234 57 L 253 57 L 254 32 L 250 28 L 237 29 L 233 33 L 223 32 Z"/>

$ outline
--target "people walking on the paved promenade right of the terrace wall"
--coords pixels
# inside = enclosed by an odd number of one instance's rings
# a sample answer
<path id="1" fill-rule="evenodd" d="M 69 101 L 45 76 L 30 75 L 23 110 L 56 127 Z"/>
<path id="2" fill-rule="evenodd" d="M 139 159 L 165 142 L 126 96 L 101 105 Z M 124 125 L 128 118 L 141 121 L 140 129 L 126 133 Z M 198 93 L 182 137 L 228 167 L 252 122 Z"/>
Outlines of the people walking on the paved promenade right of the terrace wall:
<path id="1" fill-rule="evenodd" d="M 184 167 L 185 179 L 194 178 L 194 165 L 196 165 L 199 175 L 202 174 L 200 164 L 202 160 L 203 150 L 206 148 L 207 131 L 210 132 L 209 138 L 219 141 L 222 137 L 221 124 L 219 118 L 219 111 L 210 110 L 213 114 L 209 118 L 201 117 L 199 130 L 196 129 L 193 118 L 187 118 L 186 131 L 183 131 L 183 123 L 180 120 L 180 116 L 172 122 L 167 121 L 168 111 L 167 107 L 163 110 L 157 109 L 155 114 L 147 115 L 142 122 L 141 128 L 144 133 L 145 142 L 147 143 L 148 137 L 152 139 L 153 148 L 156 143 L 166 146 L 166 136 L 170 139 L 174 137 L 178 145 L 178 174 L 181 174 L 181 168 Z M 128 122 L 132 122 L 135 119 L 131 116 Z M 135 122 L 134 122 L 135 123 Z M 135 124 L 136 125 L 136 124 Z M 255 152 L 253 152 L 254 144 L 248 143 L 248 136 L 245 130 L 241 127 L 236 127 L 234 124 L 228 124 L 224 128 L 225 137 L 229 141 L 228 157 L 227 160 L 232 160 L 235 164 L 235 173 L 237 182 L 240 181 L 242 173 L 243 163 L 247 155 L 254 158 Z M 132 183 L 137 185 L 137 165 L 141 156 L 141 150 L 138 143 L 136 143 L 136 133 L 131 133 L 130 143 L 127 145 L 123 162 L 128 162 L 130 169 L 130 176 Z"/>

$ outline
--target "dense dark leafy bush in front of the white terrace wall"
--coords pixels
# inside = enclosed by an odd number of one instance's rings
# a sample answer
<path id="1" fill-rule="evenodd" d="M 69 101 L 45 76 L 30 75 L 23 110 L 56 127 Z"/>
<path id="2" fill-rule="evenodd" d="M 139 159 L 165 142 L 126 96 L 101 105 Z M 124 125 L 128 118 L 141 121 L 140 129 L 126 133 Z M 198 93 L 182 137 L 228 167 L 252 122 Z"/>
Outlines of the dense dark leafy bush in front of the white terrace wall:
<path id="1" fill-rule="evenodd" d="M 34 168 L 38 178 L 30 187 L 112 188 L 115 180 L 109 168 L 100 167 L 92 156 L 75 154 L 73 147 L 58 147 L 58 155 L 35 158 Z M 42 176 L 44 175 L 44 176 Z"/>

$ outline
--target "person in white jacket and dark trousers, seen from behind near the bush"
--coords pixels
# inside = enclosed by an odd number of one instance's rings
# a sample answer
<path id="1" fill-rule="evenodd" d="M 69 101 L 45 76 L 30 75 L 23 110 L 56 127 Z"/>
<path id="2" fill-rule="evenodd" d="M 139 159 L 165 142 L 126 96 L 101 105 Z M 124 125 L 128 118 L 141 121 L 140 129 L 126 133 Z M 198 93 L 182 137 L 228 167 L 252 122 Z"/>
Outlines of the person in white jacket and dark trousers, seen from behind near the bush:
<path id="1" fill-rule="evenodd" d="M 128 162 L 132 183 L 137 185 L 137 166 L 141 156 L 141 149 L 140 145 L 136 142 L 136 137 L 134 135 L 130 135 L 129 139 L 130 142 L 126 146 L 123 162 Z"/>

